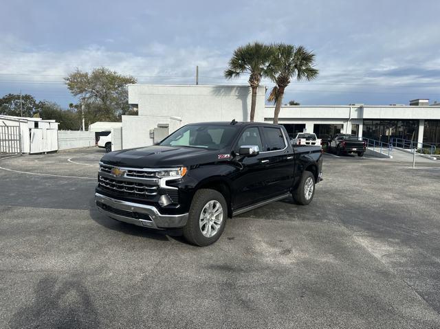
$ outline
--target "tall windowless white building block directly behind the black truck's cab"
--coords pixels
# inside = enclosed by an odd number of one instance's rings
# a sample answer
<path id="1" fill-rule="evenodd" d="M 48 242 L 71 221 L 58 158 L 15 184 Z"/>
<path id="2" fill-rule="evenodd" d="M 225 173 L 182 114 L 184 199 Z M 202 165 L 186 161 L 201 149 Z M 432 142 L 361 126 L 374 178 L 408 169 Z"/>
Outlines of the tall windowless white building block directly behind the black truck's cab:
<path id="1" fill-rule="evenodd" d="M 252 92 L 243 86 L 129 85 L 138 115 L 122 115 L 122 148 L 151 145 L 191 122 L 248 121 Z M 263 120 L 265 87 L 256 95 L 256 121 Z"/>

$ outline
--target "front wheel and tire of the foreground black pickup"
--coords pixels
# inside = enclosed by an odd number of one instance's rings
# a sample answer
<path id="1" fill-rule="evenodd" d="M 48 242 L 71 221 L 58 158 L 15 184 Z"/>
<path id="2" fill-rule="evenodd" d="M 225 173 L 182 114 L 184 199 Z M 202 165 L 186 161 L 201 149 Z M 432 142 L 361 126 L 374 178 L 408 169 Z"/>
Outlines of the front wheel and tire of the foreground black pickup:
<path id="1" fill-rule="evenodd" d="M 217 211 L 220 212 L 217 216 L 203 216 L 204 213 L 215 214 Z M 226 218 L 228 218 L 228 205 L 223 195 L 216 190 L 198 190 L 192 198 L 188 222 L 183 229 L 184 237 L 192 245 L 199 247 L 212 245 L 223 233 Z M 209 225 L 206 224 L 206 220 L 209 221 Z M 203 221 L 205 224 L 201 223 Z"/>

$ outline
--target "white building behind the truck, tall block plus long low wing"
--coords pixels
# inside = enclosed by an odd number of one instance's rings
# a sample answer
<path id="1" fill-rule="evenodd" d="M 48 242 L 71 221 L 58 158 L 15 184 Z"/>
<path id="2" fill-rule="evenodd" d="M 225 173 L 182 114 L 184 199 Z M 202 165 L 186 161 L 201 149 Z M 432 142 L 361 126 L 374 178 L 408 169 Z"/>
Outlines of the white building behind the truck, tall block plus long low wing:
<path id="1" fill-rule="evenodd" d="M 257 122 L 273 121 L 274 106 L 265 106 L 265 92 L 266 87 L 259 87 Z M 138 115 L 122 116 L 122 148 L 151 145 L 190 122 L 248 121 L 251 89 L 132 84 L 129 103 L 137 107 Z M 411 100 L 410 104 L 283 106 L 279 123 L 289 133 L 306 129 L 322 136 L 342 132 L 382 141 L 394 137 L 440 145 L 440 107 L 429 106 L 429 100 Z"/>

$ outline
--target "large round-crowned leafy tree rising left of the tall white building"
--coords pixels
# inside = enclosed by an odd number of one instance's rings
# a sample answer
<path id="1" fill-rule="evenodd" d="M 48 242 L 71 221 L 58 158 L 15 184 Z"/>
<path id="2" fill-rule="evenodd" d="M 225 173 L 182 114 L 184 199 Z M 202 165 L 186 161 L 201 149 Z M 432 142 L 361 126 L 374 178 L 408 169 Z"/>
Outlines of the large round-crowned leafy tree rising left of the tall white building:
<path id="1" fill-rule="evenodd" d="M 74 96 L 80 95 L 85 105 L 85 117 L 91 121 L 115 121 L 129 111 L 129 93 L 126 85 L 136 83 L 132 76 L 122 76 L 106 67 L 91 73 L 76 69 L 65 78 L 67 88 Z"/>

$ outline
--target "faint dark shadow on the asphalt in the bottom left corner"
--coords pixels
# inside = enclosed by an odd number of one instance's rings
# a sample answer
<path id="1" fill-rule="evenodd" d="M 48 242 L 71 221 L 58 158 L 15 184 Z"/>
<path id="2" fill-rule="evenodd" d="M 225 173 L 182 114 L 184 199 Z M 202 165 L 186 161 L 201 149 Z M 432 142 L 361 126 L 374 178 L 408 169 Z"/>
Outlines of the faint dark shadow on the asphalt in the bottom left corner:
<path id="1" fill-rule="evenodd" d="M 8 328 L 98 328 L 98 313 L 78 278 L 45 275 L 34 288 L 32 304 L 14 313 Z"/>

